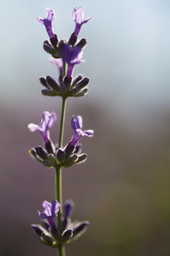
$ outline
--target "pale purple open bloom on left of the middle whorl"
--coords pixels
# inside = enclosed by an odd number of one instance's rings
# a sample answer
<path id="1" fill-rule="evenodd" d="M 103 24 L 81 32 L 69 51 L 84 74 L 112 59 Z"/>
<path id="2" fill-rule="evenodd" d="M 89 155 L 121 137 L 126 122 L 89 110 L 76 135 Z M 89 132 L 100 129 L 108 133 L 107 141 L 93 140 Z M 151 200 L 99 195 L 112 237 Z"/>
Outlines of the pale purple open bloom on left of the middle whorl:
<path id="1" fill-rule="evenodd" d="M 57 117 L 55 112 L 48 112 L 45 111 L 42 114 L 42 120 L 40 125 L 38 124 L 28 124 L 28 129 L 30 132 L 40 131 L 44 142 L 48 142 L 50 140 L 50 132 L 49 129 L 52 127 L 54 122 L 56 121 Z"/>

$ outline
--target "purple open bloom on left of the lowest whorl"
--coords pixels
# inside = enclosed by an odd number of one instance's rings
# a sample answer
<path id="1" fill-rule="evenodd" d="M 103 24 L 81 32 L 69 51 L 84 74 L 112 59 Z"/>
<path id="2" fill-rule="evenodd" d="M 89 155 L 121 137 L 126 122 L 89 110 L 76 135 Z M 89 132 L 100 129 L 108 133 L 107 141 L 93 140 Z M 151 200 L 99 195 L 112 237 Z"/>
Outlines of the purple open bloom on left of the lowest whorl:
<path id="1" fill-rule="evenodd" d="M 52 204 L 48 201 L 43 201 L 42 206 L 44 207 L 43 213 L 40 213 L 40 211 L 38 210 L 40 218 L 47 219 L 50 226 L 55 227 L 54 218 L 57 216 L 57 212 L 60 208 L 60 203 L 55 200 L 52 200 Z"/>

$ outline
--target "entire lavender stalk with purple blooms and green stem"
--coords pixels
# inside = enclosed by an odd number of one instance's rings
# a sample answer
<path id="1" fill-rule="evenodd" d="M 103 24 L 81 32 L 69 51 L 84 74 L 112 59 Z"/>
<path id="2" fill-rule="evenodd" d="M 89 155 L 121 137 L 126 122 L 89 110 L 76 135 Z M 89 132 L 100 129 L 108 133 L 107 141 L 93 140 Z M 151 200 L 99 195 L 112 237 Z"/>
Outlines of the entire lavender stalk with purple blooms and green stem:
<path id="1" fill-rule="evenodd" d="M 86 46 L 86 39 L 78 40 L 81 26 L 89 21 L 90 17 L 84 19 L 84 9 L 74 8 L 73 19 L 76 23 L 74 32 L 68 41 L 59 40 L 54 33 L 52 23 L 55 20 L 55 13 L 52 9 L 47 8 L 47 18 L 38 17 L 38 21 L 45 25 L 50 41 L 43 43 L 43 48 L 50 53 L 50 62 L 57 65 L 59 70 L 58 79 L 55 80 L 50 76 L 40 78 L 40 83 L 45 89 L 42 95 L 62 97 L 62 110 L 60 120 L 60 134 L 58 143 L 55 144 L 50 139 L 50 128 L 57 116 L 55 112 L 43 112 L 42 121 L 38 124 L 28 124 L 30 132 L 39 131 L 44 145 L 35 146 L 30 149 L 29 153 L 37 161 L 47 168 L 55 169 L 55 200 L 52 203 L 43 201 L 42 213 L 38 215 L 42 219 L 42 224 L 33 224 L 32 228 L 42 244 L 57 248 L 60 256 L 65 255 L 64 244 L 72 242 L 83 234 L 89 225 L 89 221 L 71 220 L 74 203 L 67 200 L 62 206 L 62 167 L 67 168 L 73 164 L 81 164 L 86 161 L 86 154 L 81 154 L 82 145 L 79 140 L 83 136 L 92 137 L 94 131 L 82 130 L 82 117 L 72 117 L 71 125 L 73 136 L 65 145 L 62 145 L 64 133 L 64 117 L 66 110 L 66 101 L 68 97 L 83 97 L 88 92 L 87 85 L 89 78 L 77 75 L 72 78 L 74 66 L 83 62 L 83 48 Z M 57 218 L 57 221 L 55 220 Z"/>

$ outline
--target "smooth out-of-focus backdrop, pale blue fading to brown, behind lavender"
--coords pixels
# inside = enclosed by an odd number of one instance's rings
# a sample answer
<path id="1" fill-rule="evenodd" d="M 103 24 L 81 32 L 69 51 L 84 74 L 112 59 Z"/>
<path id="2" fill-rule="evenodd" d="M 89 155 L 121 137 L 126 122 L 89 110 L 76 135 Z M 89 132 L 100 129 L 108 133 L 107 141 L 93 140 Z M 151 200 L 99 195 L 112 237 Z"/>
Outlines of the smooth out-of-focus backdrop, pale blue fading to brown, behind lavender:
<path id="1" fill-rule="evenodd" d="M 67 245 L 69 256 L 170 255 L 170 1 L 2 1 L 1 2 L 1 239 L 0 255 L 57 255 L 38 243 L 31 223 L 52 201 L 54 172 L 30 158 L 42 145 L 30 122 L 57 112 L 51 129 L 57 142 L 61 99 L 44 97 L 38 78 L 57 78 L 42 49 L 47 33 L 36 17 L 55 10 L 59 38 L 74 31 L 72 10 L 92 16 L 79 38 L 84 59 L 74 70 L 91 79 L 90 92 L 67 101 L 64 144 L 72 137 L 72 114 L 81 114 L 85 164 L 63 169 L 63 198 L 72 198 L 73 220 L 89 220 L 87 232 Z"/>

